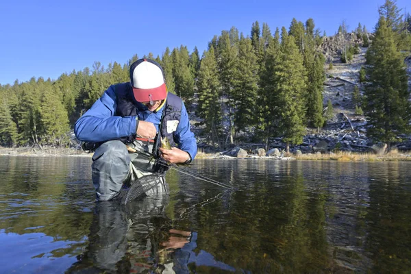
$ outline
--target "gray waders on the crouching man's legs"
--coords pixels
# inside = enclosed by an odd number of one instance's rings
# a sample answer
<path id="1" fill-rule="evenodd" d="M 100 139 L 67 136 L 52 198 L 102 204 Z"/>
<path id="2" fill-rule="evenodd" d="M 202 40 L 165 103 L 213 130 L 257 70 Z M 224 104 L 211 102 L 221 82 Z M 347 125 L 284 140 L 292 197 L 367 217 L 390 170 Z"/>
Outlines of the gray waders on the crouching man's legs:
<path id="1" fill-rule="evenodd" d="M 129 147 L 151 153 L 153 143 L 139 140 L 129 144 Z M 97 200 L 108 201 L 113 199 L 121 188 L 138 184 L 138 179 L 145 175 L 156 174 L 153 171 L 154 160 L 150 160 L 147 155 L 139 153 L 129 153 L 124 143 L 119 140 L 104 142 L 98 147 L 92 156 L 92 183 L 95 186 Z M 164 174 L 158 174 L 160 184 L 145 192 L 148 196 L 166 195 L 169 188 L 166 185 Z"/>

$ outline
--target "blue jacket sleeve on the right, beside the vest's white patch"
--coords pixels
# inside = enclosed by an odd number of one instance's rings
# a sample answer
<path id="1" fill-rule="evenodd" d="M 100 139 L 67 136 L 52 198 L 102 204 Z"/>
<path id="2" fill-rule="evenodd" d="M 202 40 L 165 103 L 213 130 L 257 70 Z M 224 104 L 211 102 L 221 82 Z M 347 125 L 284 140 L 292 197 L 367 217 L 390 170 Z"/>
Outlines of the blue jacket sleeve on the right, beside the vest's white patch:
<path id="1" fill-rule="evenodd" d="M 178 148 L 190 153 L 191 159 L 194 160 L 195 155 L 197 155 L 197 141 L 190 130 L 190 121 L 184 103 L 182 105 L 182 118 L 175 131 L 175 141 L 178 143 Z"/>

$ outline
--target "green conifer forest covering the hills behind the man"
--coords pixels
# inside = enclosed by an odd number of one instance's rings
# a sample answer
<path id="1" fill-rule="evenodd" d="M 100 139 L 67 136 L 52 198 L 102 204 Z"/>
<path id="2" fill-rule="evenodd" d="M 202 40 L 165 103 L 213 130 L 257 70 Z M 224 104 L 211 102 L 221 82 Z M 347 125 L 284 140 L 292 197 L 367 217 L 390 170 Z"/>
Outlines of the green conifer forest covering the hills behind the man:
<path id="1" fill-rule="evenodd" d="M 399 16 L 395 1 L 387 0 L 379 14 L 360 85 L 364 96 L 357 93 L 356 101 L 374 125 L 370 134 L 392 142 L 407 132 L 410 119 L 403 58 L 411 49 L 411 20 L 410 15 L 406 20 Z M 365 28 L 359 25 L 355 32 L 368 43 Z M 336 35 L 345 41 L 346 33 L 343 23 Z M 306 127 L 323 127 L 327 117 L 323 36 L 312 18 L 305 23 L 293 19 L 288 30 L 277 28 L 274 34 L 269 25 L 260 28 L 256 21 L 247 36 L 236 27 L 214 36 L 201 56 L 197 47 L 190 53 L 182 45 L 172 51 L 167 47 L 161 58 L 152 53 L 144 58 L 163 66 L 169 91 L 182 97 L 201 119 L 212 145 L 223 147 L 244 135 L 266 147 L 271 137 L 296 145 Z M 351 46 L 340 43 L 345 62 Z M 0 145 L 69 145 L 75 121 L 108 86 L 129 82 L 129 65 L 136 60 L 134 55 L 126 64 L 114 62 L 107 68 L 95 62 L 91 70 L 63 73 L 57 80 L 33 77 L 0 86 Z"/>

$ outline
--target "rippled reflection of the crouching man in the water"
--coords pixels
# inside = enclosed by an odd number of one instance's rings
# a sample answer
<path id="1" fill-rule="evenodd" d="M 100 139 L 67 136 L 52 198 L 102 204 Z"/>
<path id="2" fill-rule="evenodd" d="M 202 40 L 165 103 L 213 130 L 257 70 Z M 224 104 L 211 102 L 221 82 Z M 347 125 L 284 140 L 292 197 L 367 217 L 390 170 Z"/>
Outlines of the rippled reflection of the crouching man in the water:
<path id="1" fill-rule="evenodd" d="M 66 273 L 190 273 L 188 264 L 235 271 L 210 253 L 193 251 L 197 233 L 171 227 L 164 213 L 168 201 L 166 196 L 125 206 L 96 203 L 88 248 Z"/>

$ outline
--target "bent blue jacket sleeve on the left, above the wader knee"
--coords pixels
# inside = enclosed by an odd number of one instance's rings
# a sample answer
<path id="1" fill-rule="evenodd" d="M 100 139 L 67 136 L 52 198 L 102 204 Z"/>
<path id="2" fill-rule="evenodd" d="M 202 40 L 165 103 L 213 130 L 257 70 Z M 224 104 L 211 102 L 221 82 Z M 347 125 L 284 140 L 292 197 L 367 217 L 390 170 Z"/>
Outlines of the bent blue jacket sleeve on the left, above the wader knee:
<path id="1" fill-rule="evenodd" d="M 136 134 L 136 116 L 114 116 L 115 86 L 110 86 L 74 125 L 75 136 L 86 142 L 104 142 Z"/>

